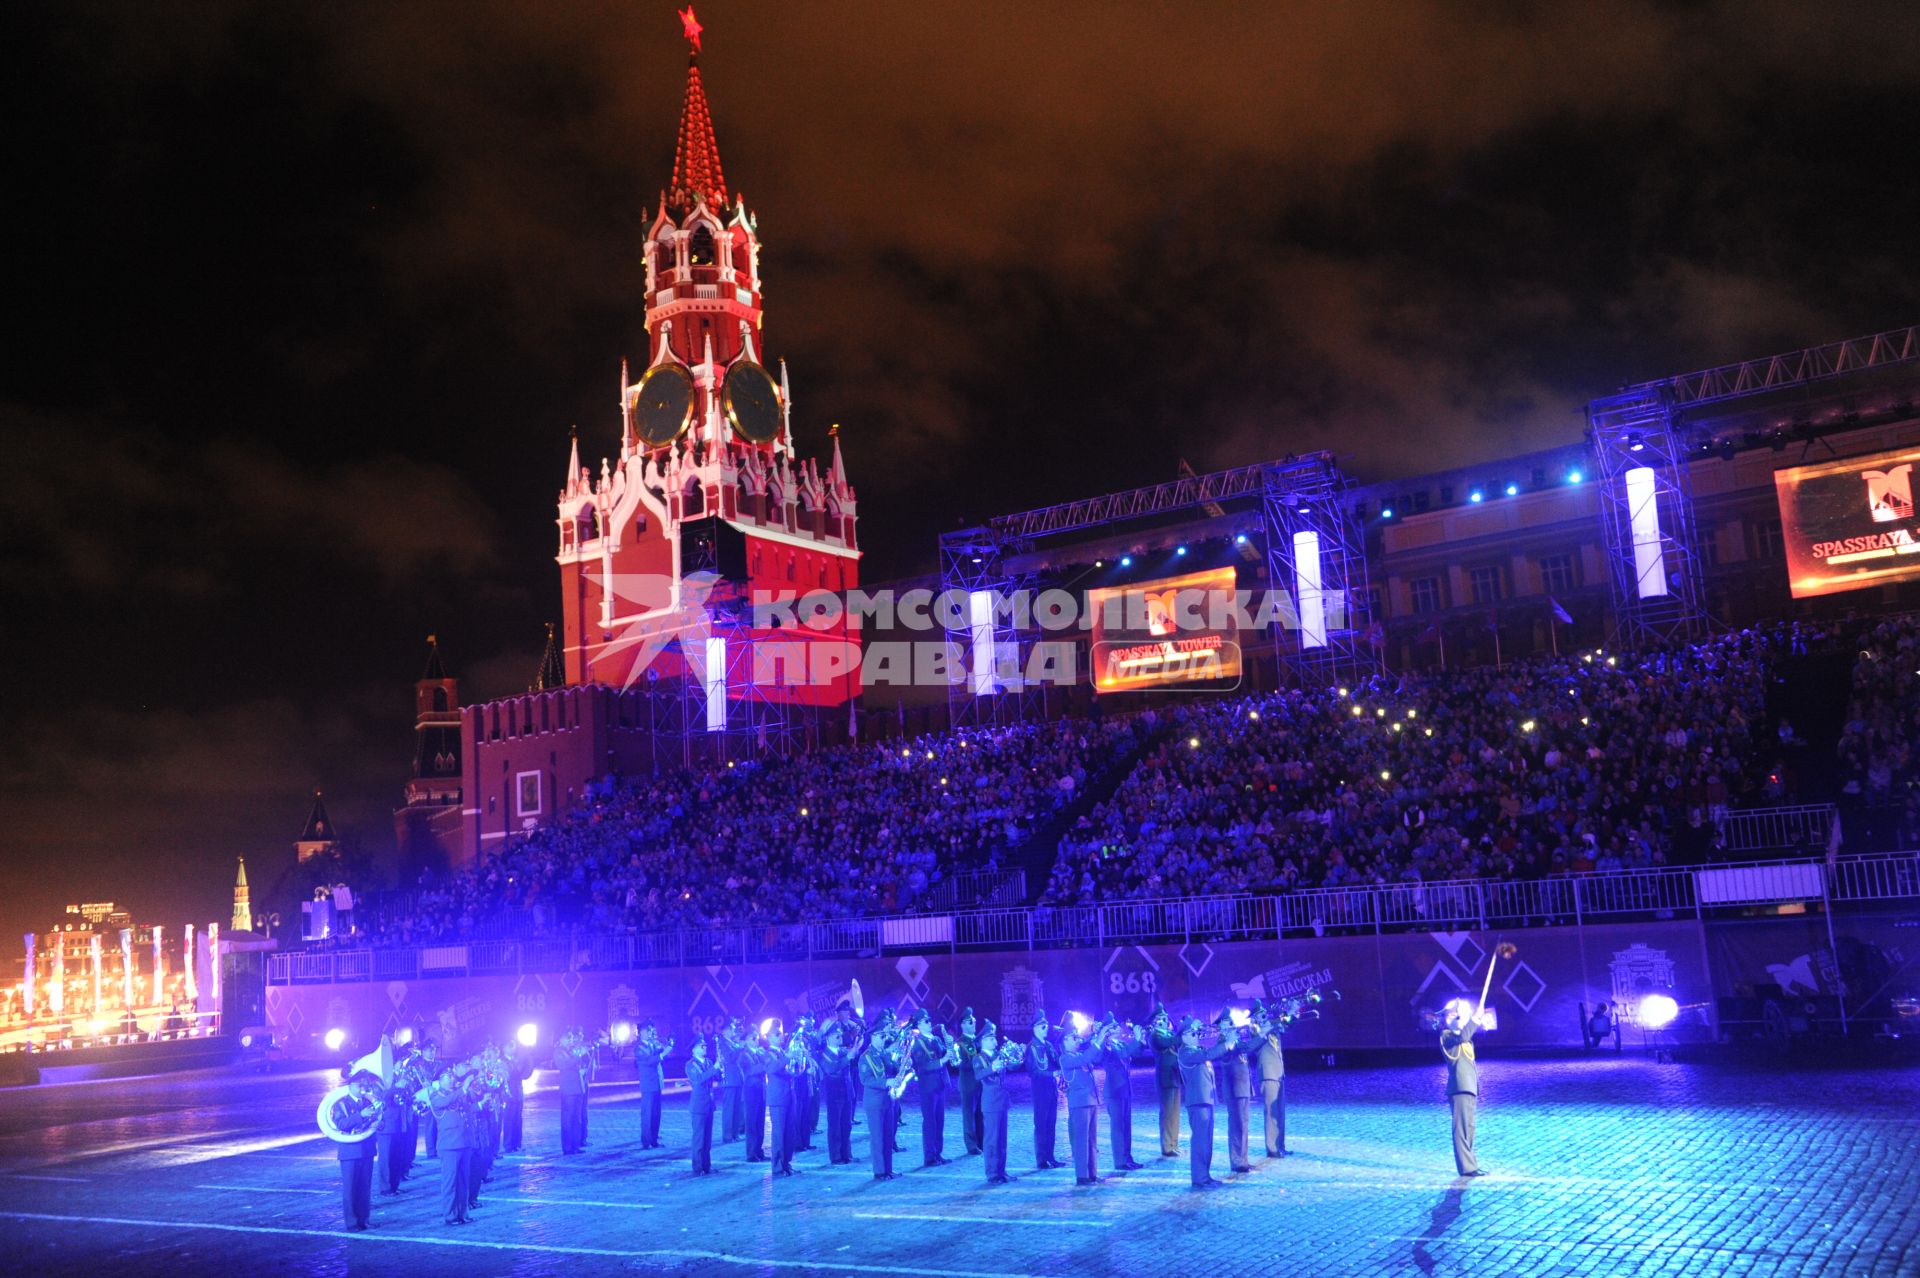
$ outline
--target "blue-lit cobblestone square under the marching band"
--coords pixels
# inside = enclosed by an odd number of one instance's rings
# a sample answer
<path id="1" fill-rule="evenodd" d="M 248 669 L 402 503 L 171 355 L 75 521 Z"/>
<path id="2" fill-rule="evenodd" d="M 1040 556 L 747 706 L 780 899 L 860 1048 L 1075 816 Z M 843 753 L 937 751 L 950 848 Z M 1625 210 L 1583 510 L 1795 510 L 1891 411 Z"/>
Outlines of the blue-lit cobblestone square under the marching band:
<path id="1" fill-rule="evenodd" d="M 1300 1073 L 1294 1157 L 1231 1188 L 1160 1159 L 1091 1190 L 1033 1172 L 1016 1109 L 1010 1171 L 979 1159 L 870 1180 L 824 1136 L 793 1180 L 716 1151 L 685 1174 L 685 1109 L 639 1151 L 632 1094 L 595 1101 L 584 1155 L 557 1157 L 553 1096 L 532 1153 L 505 1159 L 476 1222 L 440 1224 L 422 1161 L 372 1230 L 340 1232 L 317 1073 L 198 1073 L 0 1094 L 0 1268 L 33 1274 L 1912 1274 L 1920 1263 L 1920 1071 L 1763 1071 L 1647 1059 L 1488 1059 L 1480 1159 L 1453 1178 L 1436 1067 Z M 948 1117 L 948 1155 L 960 1149 Z M 1110 1174 L 1104 1153 L 1102 1172 Z M 1256 1146 L 1258 1148 L 1258 1146 Z M 1060 1157 L 1068 1157 L 1066 1132 Z M 1225 1123 L 1215 1174 L 1225 1176 Z"/>

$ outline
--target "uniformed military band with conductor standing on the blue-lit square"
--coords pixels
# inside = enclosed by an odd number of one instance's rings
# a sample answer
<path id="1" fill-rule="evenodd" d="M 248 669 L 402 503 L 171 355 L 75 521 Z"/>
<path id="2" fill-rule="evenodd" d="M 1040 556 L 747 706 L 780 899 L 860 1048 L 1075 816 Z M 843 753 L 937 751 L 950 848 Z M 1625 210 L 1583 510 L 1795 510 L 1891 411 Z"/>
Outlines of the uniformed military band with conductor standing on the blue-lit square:
<path id="1" fill-rule="evenodd" d="M 1221 1011 L 1212 1025 L 1196 1017 L 1179 1023 L 1158 1007 L 1148 1025 L 1112 1015 L 1091 1023 L 1068 1015 L 1060 1025 L 1041 1011 L 1029 1036 L 1018 1042 L 973 1013 L 952 1027 L 937 1025 L 927 1009 L 900 1021 L 891 1009 L 862 1019 L 852 1002 L 816 1023 L 803 1015 L 789 1032 L 778 1019 L 749 1030 L 737 1017 L 712 1036 L 699 1036 L 687 1055 L 687 1117 L 691 1174 L 714 1172 L 714 1126 L 722 1146 L 741 1144 L 745 1163 L 764 1163 L 770 1176 L 795 1176 L 797 1153 L 818 1149 L 828 1163 L 854 1163 L 852 1126 L 868 1130 L 874 1180 L 893 1180 L 908 1090 L 920 1107 L 920 1167 L 952 1161 L 947 1151 L 947 1109 L 960 1109 L 966 1155 L 979 1155 L 989 1186 L 1008 1184 L 1008 1123 L 1014 1098 L 1008 1080 L 1025 1077 L 1033 1123 L 1035 1172 L 1066 1169 L 1058 1157 L 1060 1101 L 1066 1098 L 1068 1153 L 1073 1184 L 1100 1184 L 1100 1115 L 1106 1113 L 1108 1157 L 1114 1171 L 1140 1171 L 1133 1153 L 1135 1063 L 1152 1063 L 1160 1098 L 1160 1157 L 1181 1155 L 1181 1109 L 1187 1111 L 1190 1184 L 1213 1188 L 1213 1140 L 1221 1109 L 1227 1124 L 1227 1169 L 1254 1171 L 1256 1124 L 1269 1159 L 1286 1149 L 1286 1061 L 1281 1036 L 1300 1017 L 1317 1015 L 1321 996 L 1309 992 L 1275 1007 Z M 1484 998 L 1482 998 L 1484 1007 Z M 1478 1011 L 1452 1009 L 1440 1048 L 1448 1063 L 1448 1103 L 1459 1174 L 1482 1174 L 1473 1157 L 1478 1092 L 1473 1030 Z M 588 1148 L 589 1096 L 599 1048 L 568 1029 L 551 1050 L 561 1101 L 561 1153 Z M 641 1149 L 660 1149 L 664 1063 L 676 1040 L 647 1023 L 632 1044 L 637 1067 Z M 493 1163 L 522 1146 L 524 1082 L 534 1053 L 520 1042 L 493 1042 L 478 1053 L 445 1061 L 432 1040 L 396 1048 L 382 1040 L 346 1073 L 346 1082 L 321 1101 L 321 1128 L 338 1142 L 346 1224 L 369 1222 L 374 1169 L 380 1194 L 394 1195 L 424 1155 L 440 1165 L 440 1205 L 445 1224 L 465 1224 L 480 1207 Z"/>

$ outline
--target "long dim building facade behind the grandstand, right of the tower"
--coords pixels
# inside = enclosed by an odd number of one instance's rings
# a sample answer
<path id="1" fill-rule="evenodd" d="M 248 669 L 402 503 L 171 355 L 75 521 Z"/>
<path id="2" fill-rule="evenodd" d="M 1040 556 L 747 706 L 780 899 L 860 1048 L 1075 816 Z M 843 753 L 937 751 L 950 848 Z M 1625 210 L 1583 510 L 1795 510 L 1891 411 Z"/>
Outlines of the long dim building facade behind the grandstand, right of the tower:
<path id="1" fill-rule="evenodd" d="M 1607 407 L 1632 395 L 1661 405 L 1659 441 L 1653 428 L 1645 439 L 1609 434 Z M 1634 547 L 1609 545 L 1609 503 L 1619 507 L 1620 485 L 1609 485 L 1603 449 L 1622 459 L 1615 478 L 1642 464 L 1651 468 L 1655 443 L 1672 459 L 1661 466 L 1670 480 L 1663 478 L 1665 487 L 1645 503 L 1645 510 L 1659 512 L 1649 535 L 1667 541 L 1651 560 L 1674 585 L 1668 595 L 1680 595 L 1678 583 L 1693 578 L 1686 593 L 1697 599 L 1695 635 L 1768 618 L 1916 608 L 1920 574 L 1903 576 L 1905 564 L 1920 568 L 1920 558 L 1908 558 L 1920 549 L 1910 493 L 1920 462 L 1916 403 L 1920 328 L 1907 328 L 1626 388 L 1594 403 L 1586 441 L 1557 449 L 1373 484 L 1338 474 L 1338 459 L 1327 455 L 1290 457 L 947 533 L 935 589 L 1062 589 L 1091 599 L 1219 576 L 1238 591 L 1261 595 L 1271 587 L 1290 597 L 1294 614 L 1304 612 L 1302 597 L 1284 545 L 1277 545 L 1290 528 L 1317 528 L 1325 558 L 1344 543 L 1363 551 L 1361 564 L 1348 570 L 1346 606 L 1327 601 L 1329 629 L 1319 652 L 1286 626 L 1242 631 L 1229 635 L 1238 643 L 1240 668 L 1227 677 L 1173 679 L 1146 691 L 1119 679 L 1104 693 L 1098 631 L 1068 631 L 1079 672 L 1073 687 L 1018 689 L 987 679 L 975 689 L 968 687 L 970 674 L 954 687 L 945 720 L 964 725 L 1071 714 L 1094 700 L 1133 708 L 1167 695 L 1311 681 L 1327 670 L 1315 660 L 1338 649 L 1342 635 L 1346 649 L 1338 656 L 1357 672 L 1494 664 L 1620 641 L 1630 631 L 1622 612 L 1636 606 L 1620 578 L 1628 585 L 1638 578 Z M 1309 462 L 1332 468 L 1323 487 L 1338 491 L 1338 509 L 1331 501 L 1317 507 L 1294 487 L 1292 476 Z M 1826 533 L 1837 539 L 1820 541 L 1812 524 L 1784 524 L 1784 501 L 1839 528 Z M 1619 526 L 1626 526 L 1624 514 Z M 1789 583 L 1789 545 L 1801 564 L 1793 572 L 1801 578 L 1799 597 Z M 1836 568 L 1818 566 L 1809 576 L 1807 566 L 1826 564 L 1828 553 Z M 1849 560 L 1870 556 L 1884 564 L 1876 578 L 1845 578 L 1860 568 Z M 1062 639 L 1037 627 L 989 629 L 970 635 L 962 627 L 954 635 L 966 670 L 979 670 L 983 641 L 1002 658 L 1016 652 L 1012 668 L 1023 668 L 1029 645 Z M 891 635 L 870 635 L 876 645 Z M 1647 641 L 1644 633 L 1640 641 Z M 876 689 L 866 700 L 872 708 Z M 924 689 L 904 700 L 918 714 L 902 714 L 902 722 L 939 720 Z"/>

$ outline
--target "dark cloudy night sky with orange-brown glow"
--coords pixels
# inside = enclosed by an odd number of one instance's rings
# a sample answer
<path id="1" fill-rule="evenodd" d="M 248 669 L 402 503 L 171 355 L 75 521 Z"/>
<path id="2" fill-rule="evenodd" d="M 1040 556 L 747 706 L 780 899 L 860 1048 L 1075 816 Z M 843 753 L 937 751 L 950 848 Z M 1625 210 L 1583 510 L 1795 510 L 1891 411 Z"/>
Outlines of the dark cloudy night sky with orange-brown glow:
<path id="1" fill-rule="evenodd" d="M 701 21 L 868 580 L 1181 457 L 1407 474 L 1920 319 L 1905 0 Z M 386 846 L 428 631 L 470 693 L 532 674 L 566 430 L 611 453 L 645 361 L 685 46 L 666 0 L 4 23 L 0 925 L 225 919 L 315 785 Z"/>

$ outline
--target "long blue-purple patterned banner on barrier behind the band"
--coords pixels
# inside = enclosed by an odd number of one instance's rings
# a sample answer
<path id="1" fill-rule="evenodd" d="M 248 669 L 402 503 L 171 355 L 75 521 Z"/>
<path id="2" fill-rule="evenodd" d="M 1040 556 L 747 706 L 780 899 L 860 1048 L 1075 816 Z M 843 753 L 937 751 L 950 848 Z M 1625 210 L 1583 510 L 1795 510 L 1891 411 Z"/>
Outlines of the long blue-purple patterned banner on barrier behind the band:
<path id="1" fill-rule="evenodd" d="M 1678 1032 L 1713 1032 L 1707 946 L 1692 919 L 1507 935 L 1400 933 L 273 986 L 267 1017 L 294 1053 L 317 1053 L 328 1029 L 367 1044 L 401 1025 L 438 1036 L 449 1052 L 468 1052 L 526 1023 L 540 1027 L 540 1042 L 551 1042 L 568 1025 L 597 1030 L 651 1019 L 662 1036 L 689 1044 L 695 1034 L 720 1032 L 730 1017 L 749 1025 L 780 1017 L 791 1025 L 810 1011 L 824 1019 L 852 981 L 870 1015 L 879 1007 L 900 1015 L 927 1007 L 954 1023 L 973 1007 L 1016 1036 L 1025 1036 L 1039 1011 L 1052 1023 L 1068 1011 L 1112 1011 L 1144 1023 L 1165 1006 L 1175 1019 L 1212 1019 L 1221 1007 L 1319 988 L 1338 990 L 1340 1000 L 1325 1004 L 1319 1019 L 1298 1023 L 1290 1046 L 1417 1048 L 1432 1040 L 1421 1013 L 1438 1011 L 1450 998 L 1476 998 L 1501 940 L 1519 944 L 1519 954 L 1500 963 L 1488 998 L 1500 1013 L 1500 1042 L 1580 1046 L 1582 1007 L 1607 1002 L 1630 1015 L 1653 992 L 1693 1009 Z"/>

